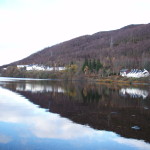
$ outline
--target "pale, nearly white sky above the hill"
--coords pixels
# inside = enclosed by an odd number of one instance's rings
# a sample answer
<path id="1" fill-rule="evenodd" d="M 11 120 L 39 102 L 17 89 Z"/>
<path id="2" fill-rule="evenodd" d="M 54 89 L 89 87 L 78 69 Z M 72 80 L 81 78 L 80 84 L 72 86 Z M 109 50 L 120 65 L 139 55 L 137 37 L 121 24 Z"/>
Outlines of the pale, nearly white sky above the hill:
<path id="1" fill-rule="evenodd" d="M 150 0 L 0 0 L 0 65 L 149 18 Z"/>

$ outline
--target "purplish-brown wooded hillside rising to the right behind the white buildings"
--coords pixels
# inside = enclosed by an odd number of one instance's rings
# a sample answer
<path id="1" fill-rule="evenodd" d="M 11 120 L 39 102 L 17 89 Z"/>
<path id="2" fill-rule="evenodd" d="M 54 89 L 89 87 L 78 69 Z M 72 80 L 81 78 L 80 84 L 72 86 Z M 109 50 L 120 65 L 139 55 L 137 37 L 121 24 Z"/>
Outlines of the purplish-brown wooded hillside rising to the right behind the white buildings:
<path id="1" fill-rule="evenodd" d="M 83 62 L 85 58 L 100 59 L 104 66 L 114 70 L 122 67 L 150 70 L 150 24 L 129 25 L 81 36 L 47 47 L 9 65 L 64 66 L 72 61 Z"/>

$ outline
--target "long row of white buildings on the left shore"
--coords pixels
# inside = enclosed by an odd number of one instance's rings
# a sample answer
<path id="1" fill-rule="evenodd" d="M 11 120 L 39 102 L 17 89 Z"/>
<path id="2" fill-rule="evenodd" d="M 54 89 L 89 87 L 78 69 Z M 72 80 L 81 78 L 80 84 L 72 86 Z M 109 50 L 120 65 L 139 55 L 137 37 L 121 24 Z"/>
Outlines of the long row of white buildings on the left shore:
<path id="1" fill-rule="evenodd" d="M 47 66 L 43 66 L 43 65 L 17 65 L 17 68 L 25 69 L 28 71 L 31 71 L 31 70 L 43 70 L 43 71 L 65 70 L 65 67 L 47 67 Z"/>

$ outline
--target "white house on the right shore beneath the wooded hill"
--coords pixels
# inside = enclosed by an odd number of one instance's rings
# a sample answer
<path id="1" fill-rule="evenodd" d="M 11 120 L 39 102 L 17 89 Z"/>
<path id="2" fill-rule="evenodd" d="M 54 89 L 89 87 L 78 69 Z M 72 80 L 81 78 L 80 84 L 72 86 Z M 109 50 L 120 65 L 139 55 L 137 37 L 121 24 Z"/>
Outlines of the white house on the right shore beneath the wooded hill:
<path id="1" fill-rule="evenodd" d="M 141 78 L 141 77 L 148 77 L 150 74 L 149 72 L 144 70 L 138 70 L 138 69 L 122 69 L 120 71 L 120 75 L 123 77 L 134 77 L 134 78 Z"/>

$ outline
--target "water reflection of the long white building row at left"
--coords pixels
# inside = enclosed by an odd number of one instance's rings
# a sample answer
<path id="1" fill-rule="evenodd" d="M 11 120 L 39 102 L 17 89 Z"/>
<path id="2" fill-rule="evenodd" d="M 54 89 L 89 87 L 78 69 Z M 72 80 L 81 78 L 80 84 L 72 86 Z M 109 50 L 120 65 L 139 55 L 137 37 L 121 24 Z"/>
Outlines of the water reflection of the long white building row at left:
<path id="1" fill-rule="evenodd" d="M 56 92 L 56 93 L 64 93 L 64 89 L 61 87 L 52 87 L 49 85 L 41 85 L 41 84 L 17 84 L 17 91 L 30 91 L 32 93 L 37 92 Z"/>

